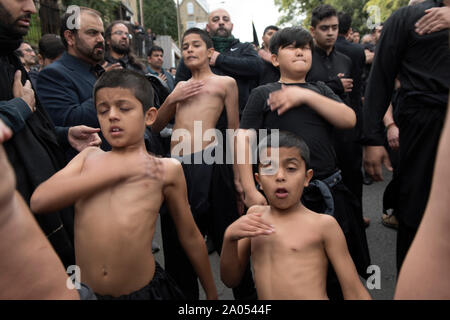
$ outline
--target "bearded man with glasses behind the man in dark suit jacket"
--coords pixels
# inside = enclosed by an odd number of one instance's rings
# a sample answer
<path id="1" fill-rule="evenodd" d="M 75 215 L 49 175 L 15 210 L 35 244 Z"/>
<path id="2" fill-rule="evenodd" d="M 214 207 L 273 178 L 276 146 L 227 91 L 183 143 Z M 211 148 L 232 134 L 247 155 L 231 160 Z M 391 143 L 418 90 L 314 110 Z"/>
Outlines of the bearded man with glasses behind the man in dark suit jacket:
<path id="1" fill-rule="evenodd" d="M 123 21 L 112 22 L 105 31 L 105 60 L 109 64 L 120 63 L 122 68 L 139 73 L 144 72 L 144 65 L 131 53 L 130 42 L 133 36 Z"/>

